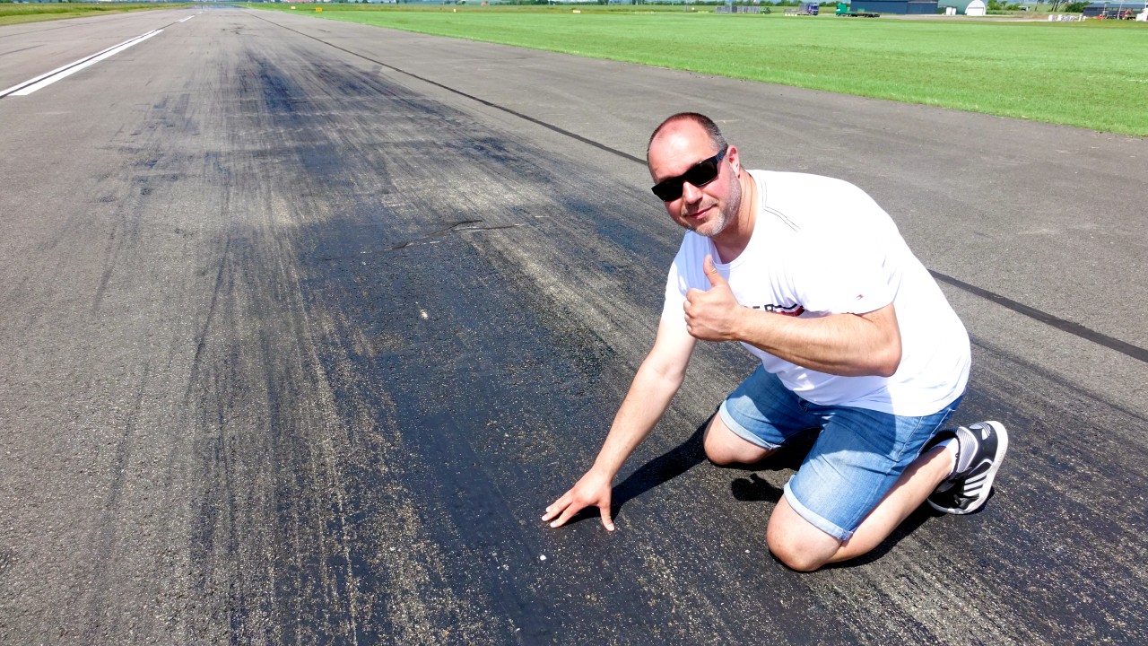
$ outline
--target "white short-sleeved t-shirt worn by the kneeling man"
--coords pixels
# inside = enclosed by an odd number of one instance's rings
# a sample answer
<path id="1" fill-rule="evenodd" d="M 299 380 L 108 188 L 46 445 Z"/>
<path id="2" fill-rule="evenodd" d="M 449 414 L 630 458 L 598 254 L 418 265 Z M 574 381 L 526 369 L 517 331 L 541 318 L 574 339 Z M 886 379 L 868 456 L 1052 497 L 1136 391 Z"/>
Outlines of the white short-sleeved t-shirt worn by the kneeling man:
<path id="1" fill-rule="evenodd" d="M 685 326 L 685 292 L 711 287 L 703 262 L 712 255 L 745 307 L 812 318 L 893 303 L 901 363 L 892 377 L 827 375 L 743 344 L 801 398 L 923 416 L 960 397 L 969 379 L 969 336 L 889 214 L 840 179 L 763 170 L 750 175 L 760 200 L 748 246 L 734 262 L 721 263 L 708 238 L 685 233 L 669 269 L 662 320 Z"/>

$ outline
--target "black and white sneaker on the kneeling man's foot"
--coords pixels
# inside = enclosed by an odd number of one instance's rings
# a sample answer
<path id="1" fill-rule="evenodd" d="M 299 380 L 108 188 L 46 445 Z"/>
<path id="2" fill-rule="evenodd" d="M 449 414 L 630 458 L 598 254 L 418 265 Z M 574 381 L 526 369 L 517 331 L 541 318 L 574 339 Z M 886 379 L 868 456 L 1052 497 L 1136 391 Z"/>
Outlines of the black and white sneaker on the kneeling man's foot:
<path id="1" fill-rule="evenodd" d="M 956 468 L 929 495 L 929 505 L 946 514 L 971 514 L 988 500 L 993 478 L 1008 451 L 1008 431 L 1000 422 L 977 422 L 952 432 L 956 434 Z M 951 437 L 943 433 L 930 445 Z"/>

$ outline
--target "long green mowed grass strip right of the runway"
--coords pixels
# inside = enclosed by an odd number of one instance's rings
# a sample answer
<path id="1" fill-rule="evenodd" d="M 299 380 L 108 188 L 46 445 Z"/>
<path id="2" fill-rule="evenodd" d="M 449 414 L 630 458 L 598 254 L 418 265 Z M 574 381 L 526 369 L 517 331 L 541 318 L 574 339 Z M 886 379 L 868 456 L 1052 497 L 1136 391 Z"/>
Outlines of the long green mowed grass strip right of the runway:
<path id="1" fill-rule="evenodd" d="M 1146 23 L 723 16 L 682 9 L 347 9 L 327 5 L 315 15 L 1148 136 Z"/>

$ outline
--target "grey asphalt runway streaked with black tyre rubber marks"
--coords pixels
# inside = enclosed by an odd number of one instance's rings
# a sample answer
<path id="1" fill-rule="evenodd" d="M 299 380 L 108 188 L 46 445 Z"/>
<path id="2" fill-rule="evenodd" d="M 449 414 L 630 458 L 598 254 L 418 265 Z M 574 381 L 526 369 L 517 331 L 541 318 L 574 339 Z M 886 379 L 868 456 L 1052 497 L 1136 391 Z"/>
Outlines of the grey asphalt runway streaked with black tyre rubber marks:
<path id="1" fill-rule="evenodd" d="M 0 643 L 1148 641 L 1145 140 L 240 9 L 0 28 L 0 87 L 157 29 L 0 98 Z M 788 570 L 798 456 L 703 460 L 707 346 L 619 531 L 540 522 L 652 341 L 684 109 L 936 272 L 983 512 Z"/>

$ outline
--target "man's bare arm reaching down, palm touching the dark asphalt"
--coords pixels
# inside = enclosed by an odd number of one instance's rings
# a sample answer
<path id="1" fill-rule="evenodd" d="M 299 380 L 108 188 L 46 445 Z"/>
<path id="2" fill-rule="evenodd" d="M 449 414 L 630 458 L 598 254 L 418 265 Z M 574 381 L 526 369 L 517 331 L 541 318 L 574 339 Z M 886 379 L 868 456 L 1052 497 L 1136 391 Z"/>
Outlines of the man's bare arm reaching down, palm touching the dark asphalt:
<path id="1" fill-rule="evenodd" d="M 542 516 L 544 522 L 552 528 L 561 526 L 585 507 L 595 506 L 602 515 L 602 524 L 610 531 L 614 530 L 610 515 L 614 476 L 669 407 L 685 378 L 695 344 L 693 337 L 680 328 L 665 322 L 658 326 L 653 348 L 634 376 L 594 466 L 569 491 L 546 507 Z"/>

